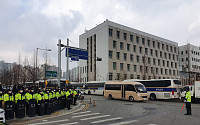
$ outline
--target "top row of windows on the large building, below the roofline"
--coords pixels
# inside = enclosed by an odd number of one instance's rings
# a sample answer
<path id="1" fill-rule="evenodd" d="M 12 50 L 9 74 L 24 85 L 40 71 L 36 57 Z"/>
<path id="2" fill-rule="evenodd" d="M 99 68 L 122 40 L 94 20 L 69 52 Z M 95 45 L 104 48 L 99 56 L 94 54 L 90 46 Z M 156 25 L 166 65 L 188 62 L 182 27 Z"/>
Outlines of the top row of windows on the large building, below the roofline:
<path id="1" fill-rule="evenodd" d="M 109 36 L 112 37 L 113 36 L 113 29 L 109 29 Z M 117 39 L 120 39 L 120 31 L 117 31 L 116 32 L 116 36 L 117 36 Z M 152 46 L 155 48 L 157 47 L 158 49 L 162 49 L 162 50 L 166 50 L 166 51 L 170 51 L 170 52 L 174 52 L 176 53 L 177 52 L 177 47 L 173 47 L 173 46 L 170 46 L 170 45 L 165 45 L 165 44 L 161 44 L 160 42 L 156 42 L 156 41 L 152 41 L 151 43 L 151 40 L 150 39 L 146 39 L 146 38 L 142 38 L 142 37 L 139 37 L 139 36 L 135 36 L 135 39 L 134 39 L 134 35 L 130 34 L 130 42 L 135 42 L 136 43 L 140 43 L 140 41 L 142 42 L 142 45 L 147 45 L 147 46 Z M 127 41 L 127 33 L 123 33 L 123 40 Z M 120 42 L 120 44 L 123 43 L 123 42 Z M 113 40 L 113 44 L 117 44 L 117 41 Z"/>

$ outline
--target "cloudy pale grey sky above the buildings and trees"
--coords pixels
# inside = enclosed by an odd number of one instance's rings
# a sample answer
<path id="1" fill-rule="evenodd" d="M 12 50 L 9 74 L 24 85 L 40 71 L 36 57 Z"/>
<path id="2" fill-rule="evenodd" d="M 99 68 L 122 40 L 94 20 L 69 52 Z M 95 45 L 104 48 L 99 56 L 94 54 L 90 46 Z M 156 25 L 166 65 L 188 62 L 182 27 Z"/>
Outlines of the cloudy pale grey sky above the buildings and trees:
<path id="1" fill-rule="evenodd" d="M 178 45 L 200 46 L 200 0 L 0 0 L 0 60 L 58 65 L 58 40 L 79 46 L 79 35 L 106 19 Z M 62 52 L 62 70 L 65 70 Z M 26 62 L 27 63 L 27 62 Z M 70 62 L 70 69 L 78 62 Z"/>

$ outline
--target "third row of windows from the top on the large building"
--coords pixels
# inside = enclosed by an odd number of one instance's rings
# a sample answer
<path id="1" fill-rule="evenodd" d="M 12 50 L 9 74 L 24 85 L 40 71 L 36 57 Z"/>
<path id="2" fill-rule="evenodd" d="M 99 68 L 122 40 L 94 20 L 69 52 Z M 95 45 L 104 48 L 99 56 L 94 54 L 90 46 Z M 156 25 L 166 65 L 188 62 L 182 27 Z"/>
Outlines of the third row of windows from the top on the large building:
<path id="1" fill-rule="evenodd" d="M 121 55 L 120 52 L 116 52 L 116 59 L 117 60 L 120 60 L 120 55 Z M 123 60 L 124 61 L 127 61 L 128 55 L 129 54 L 127 54 L 127 53 L 123 53 Z M 109 59 L 113 59 L 113 51 L 109 51 L 108 56 L 109 56 Z M 168 54 L 168 57 L 169 57 L 169 59 L 171 59 L 171 54 Z M 172 59 L 175 60 L 175 55 L 172 55 L 172 57 L 173 57 Z M 133 54 L 130 54 L 129 58 L 130 58 L 130 61 L 133 62 Z M 135 58 L 137 60 L 137 63 L 140 63 L 140 58 L 141 57 L 137 55 Z M 165 54 L 164 58 L 167 59 L 167 54 Z M 147 63 L 148 62 L 149 64 L 151 64 L 151 58 L 150 57 L 147 58 L 147 57 L 143 56 L 142 57 L 142 62 L 143 63 Z M 153 58 L 153 64 L 154 65 L 156 65 L 155 62 L 156 62 L 156 59 Z M 169 61 L 167 61 L 167 62 L 169 62 Z M 163 60 L 163 64 L 165 64 L 164 60 Z M 158 59 L 158 65 L 160 65 L 160 59 Z M 165 65 L 163 65 L 163 66 L 165 66 Z"/>

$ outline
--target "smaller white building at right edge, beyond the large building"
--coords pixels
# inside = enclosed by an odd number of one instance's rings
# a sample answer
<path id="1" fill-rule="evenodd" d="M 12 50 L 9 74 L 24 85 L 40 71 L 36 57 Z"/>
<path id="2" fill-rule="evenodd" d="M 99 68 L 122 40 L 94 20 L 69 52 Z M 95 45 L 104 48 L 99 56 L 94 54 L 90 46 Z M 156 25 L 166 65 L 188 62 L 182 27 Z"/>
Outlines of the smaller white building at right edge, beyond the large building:
<path id="1" fill-rule="evenodd" d="M 200 47 L 179 46 L 179 71 L 183 84 L 192 84 L 200 72 Z"/>

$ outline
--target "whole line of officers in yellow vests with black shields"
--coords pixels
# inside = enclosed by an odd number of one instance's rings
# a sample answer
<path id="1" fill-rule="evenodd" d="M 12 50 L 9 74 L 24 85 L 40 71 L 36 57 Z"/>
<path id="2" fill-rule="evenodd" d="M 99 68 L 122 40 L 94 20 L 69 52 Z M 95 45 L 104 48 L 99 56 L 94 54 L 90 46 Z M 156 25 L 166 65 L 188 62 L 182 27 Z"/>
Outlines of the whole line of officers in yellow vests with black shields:
<path id="1" fill-rule="evenodd" d="M 58 110 L 68 108 L 71 104 L 76 104 L 78 93 L 72 89 L 41 89 L 38 91 L 26 88 L 18 90 L 14 94 L 11 90 L 5 93 L 0 91 L 0 108 L 5 110 L 6 120 L 24 118 L 26 115 L 35 117 L 36 115 L 50 115 Z"/>

